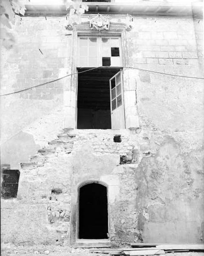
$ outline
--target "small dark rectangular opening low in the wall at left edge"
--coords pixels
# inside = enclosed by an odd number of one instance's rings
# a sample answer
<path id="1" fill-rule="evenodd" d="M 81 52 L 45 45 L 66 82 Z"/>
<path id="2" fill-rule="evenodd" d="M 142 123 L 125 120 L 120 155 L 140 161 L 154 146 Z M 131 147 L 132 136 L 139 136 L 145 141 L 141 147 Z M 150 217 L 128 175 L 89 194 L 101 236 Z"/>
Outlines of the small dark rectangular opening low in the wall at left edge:
<path id="1" fill-rule="evenodd" d="M 2 198 L 17 197 L 19 177 L 19 170 L 3 170 L 3 181 L 1 184 Z"/>

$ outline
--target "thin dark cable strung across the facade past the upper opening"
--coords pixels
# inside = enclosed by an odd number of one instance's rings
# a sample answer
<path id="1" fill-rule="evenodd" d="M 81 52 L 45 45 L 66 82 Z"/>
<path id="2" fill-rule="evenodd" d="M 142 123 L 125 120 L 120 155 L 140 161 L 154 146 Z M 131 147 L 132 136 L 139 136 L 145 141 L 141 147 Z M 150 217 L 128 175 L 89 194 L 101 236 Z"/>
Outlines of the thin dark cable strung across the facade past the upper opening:
<path id="1" fill-rule="evenodd" d="M 102 67 L 102 66 L 100 66 Z M 66 76 L 62 76 L 58 79 L 54 79 L 52 81 L 48 81 L 48 82 L 45 82 L 43 84 L 37 84 L 37 85 L 34 85 L 34 86 L 31 86 L 31 87 L 28 87 L 28 88 L 25 88 L 23 90 L 19 90 L 19 91 L 16 91 L 16 92 L 12 92 L 12 93 L 5 93 L 5 94 L 1 94 L 1 96 L 7 96 L 7 95 L 11 95 L 11 94 L 15 94 L 15 93 L 21 93 L 23 91 L 26 91 L 26 90 L 30 90 L 32 88 L 36 88 L 36 87 L 39 87 L 39 86 L 42 86 L 42 85 L 45 85 L 45 84 L 49 84 L 49 83 L 52 83 L 52 82 L 55 82 L 55 81 L 59 81 L 65 77 L 68 77 L 68 76 L 72 76 L 72 75 L 77 75 L 77 74 L 80 74 L 80 73 L 84 73 L 84 72 L 88 72 L 90 70 L 95 70 L 97 68 L 100 68 L 100 67 L 93 67 L 91 69 L 88 69 L 88 70 L 84 70 L 84 71 L 80 71 L 80 72 L 76 72 L 76 73 L 71 73 L 71 74 L 68 74 Z M 82 68 L 82 67 L 80 67 Z M 159 72 L 159 71 L 153 71 L 153 70 L 145 70 L 145 69 L 142 69 L 142 68 L 138 68 L 138 67 L 123 67 L 123 68 L 132 68 L 132 69 L 135 69 L 135 70 L 140 70 L 140 71 L 145 71 L 145 72 L 150 72 L 150 73 L 157 73 L 157 74 L 162 74 L 162 75 L 167 75 L 167 76 L 176 76 L 176 77 L 183 77 L 183 78 L 190 78 L 190 79 L 204 79 L 204 77 L 195 77 L 195 76 L 181 76 L 181 75 L 176 75 L 176 74 L 170 74 L 170 73 L 164 73 L 164 72 Z"/>

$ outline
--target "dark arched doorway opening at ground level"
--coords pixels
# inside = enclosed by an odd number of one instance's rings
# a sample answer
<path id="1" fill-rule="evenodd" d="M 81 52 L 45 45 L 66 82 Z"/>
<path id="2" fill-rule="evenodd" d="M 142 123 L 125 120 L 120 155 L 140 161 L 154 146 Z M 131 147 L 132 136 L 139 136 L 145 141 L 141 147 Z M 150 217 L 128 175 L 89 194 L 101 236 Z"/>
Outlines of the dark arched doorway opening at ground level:
<path id="1" fill-rule="evenodd" d="M 79 190 L 79 239 L 108 239 L 107 188 L 101 184 Z"/>

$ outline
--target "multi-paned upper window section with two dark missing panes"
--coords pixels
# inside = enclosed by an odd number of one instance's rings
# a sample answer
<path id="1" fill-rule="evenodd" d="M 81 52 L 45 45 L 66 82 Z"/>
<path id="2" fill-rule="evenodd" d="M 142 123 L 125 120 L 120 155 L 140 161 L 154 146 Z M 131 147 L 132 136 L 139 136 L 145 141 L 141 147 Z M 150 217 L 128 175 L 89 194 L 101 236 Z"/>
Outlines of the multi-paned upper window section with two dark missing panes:
<path id="1" fill-rule="evenodd" d="M 121 67 L 120 37 L 79 36 L 78 67 Z"/>

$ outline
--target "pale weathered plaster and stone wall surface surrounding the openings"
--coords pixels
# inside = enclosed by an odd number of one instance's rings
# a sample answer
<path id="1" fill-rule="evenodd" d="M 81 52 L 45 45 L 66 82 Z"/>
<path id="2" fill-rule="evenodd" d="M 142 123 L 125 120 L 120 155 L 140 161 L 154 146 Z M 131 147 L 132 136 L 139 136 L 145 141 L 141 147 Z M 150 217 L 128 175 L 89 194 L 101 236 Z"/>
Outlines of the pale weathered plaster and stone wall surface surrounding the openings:
<path id="1" fill-rule="evenodd" d="M 22 19 L 18 51 L 3 55 L 2 93 L 71 70 L 65 17 Z M 202 76 L 200 23 L 135 17 L 125 32 L 125 66 Z M 138 121 L 130 130 L 66 129 L 63 106 L 76 89 L 67 90 L 68 79 L 3 97 L 1 162 L 20 170 L 17 198 L 1 200 L 3 242 L 74 242 L 77 187 L 87 180 L 108 186 L 112 245 L 203 241 L 203 82 L 128 68 L 123 75 L 126 117 L 130 126 Z"/>

